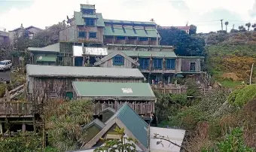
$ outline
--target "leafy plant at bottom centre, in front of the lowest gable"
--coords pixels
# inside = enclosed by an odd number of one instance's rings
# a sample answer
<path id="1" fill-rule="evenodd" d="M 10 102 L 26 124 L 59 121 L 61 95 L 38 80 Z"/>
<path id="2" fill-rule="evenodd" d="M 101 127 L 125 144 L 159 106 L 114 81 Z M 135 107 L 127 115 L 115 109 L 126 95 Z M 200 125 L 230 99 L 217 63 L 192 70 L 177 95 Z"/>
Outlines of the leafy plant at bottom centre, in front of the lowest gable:
<path id="1" fill-rule="evenodd" d="M 117 132 L 117 135 L 119 135 L 119 139 L 113 139 L 113 140 L 107 140 L 102 139 L 104 141 L 104 146 L 97 147 L 94 151 L 95 152 L 102 152 L 102 151 L 110 151 L 110 152 L 136 152 L 136 145 L 134 143 L 137 143 L 136 140 L 133 138 L 128 138 L 124 133 L 124 129 L 119 129 L 116 127 L 114 129 L 115 132 Z"/>

